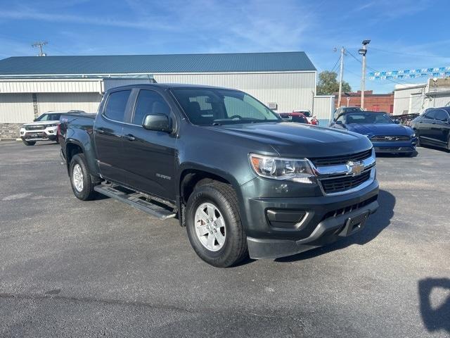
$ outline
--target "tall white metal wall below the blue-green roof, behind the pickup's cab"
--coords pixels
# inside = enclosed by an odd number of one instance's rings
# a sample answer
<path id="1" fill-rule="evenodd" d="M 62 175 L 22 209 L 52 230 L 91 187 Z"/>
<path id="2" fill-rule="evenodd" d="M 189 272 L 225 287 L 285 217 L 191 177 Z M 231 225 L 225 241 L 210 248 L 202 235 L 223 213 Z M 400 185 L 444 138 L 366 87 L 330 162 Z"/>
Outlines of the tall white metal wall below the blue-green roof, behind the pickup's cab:
<path id="1" fill-rule="evenodd" d="M 316 72 L 154 74 L 158 83 L 205 84 L 239 89 L 264 104 L 275 102 L 279 113 L 312 109 L 316 94 Z"/>

